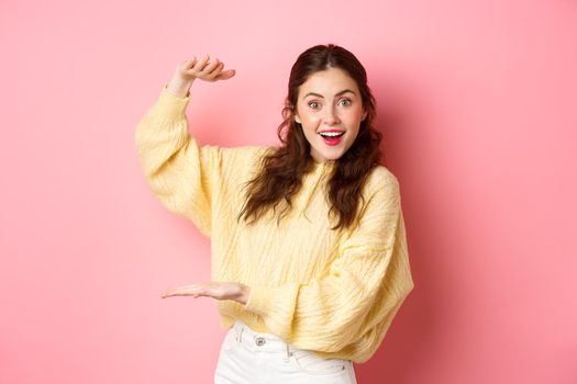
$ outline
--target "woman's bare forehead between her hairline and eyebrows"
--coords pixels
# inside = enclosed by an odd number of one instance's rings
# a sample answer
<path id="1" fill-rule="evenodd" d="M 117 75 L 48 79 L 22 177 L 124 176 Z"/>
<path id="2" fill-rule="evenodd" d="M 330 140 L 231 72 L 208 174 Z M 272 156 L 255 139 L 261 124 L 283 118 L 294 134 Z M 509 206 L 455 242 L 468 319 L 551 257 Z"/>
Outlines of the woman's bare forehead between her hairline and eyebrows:
<path id="1" fill-rule="evenodd" d="M 299 87 L 299 94 L 314 92 L 332 97 L 344 89 L 349 89 L 358 94 L 356 81 L 346 71 L 340 68 L 328 68 L 310 75 L 307 81 Z"/>

